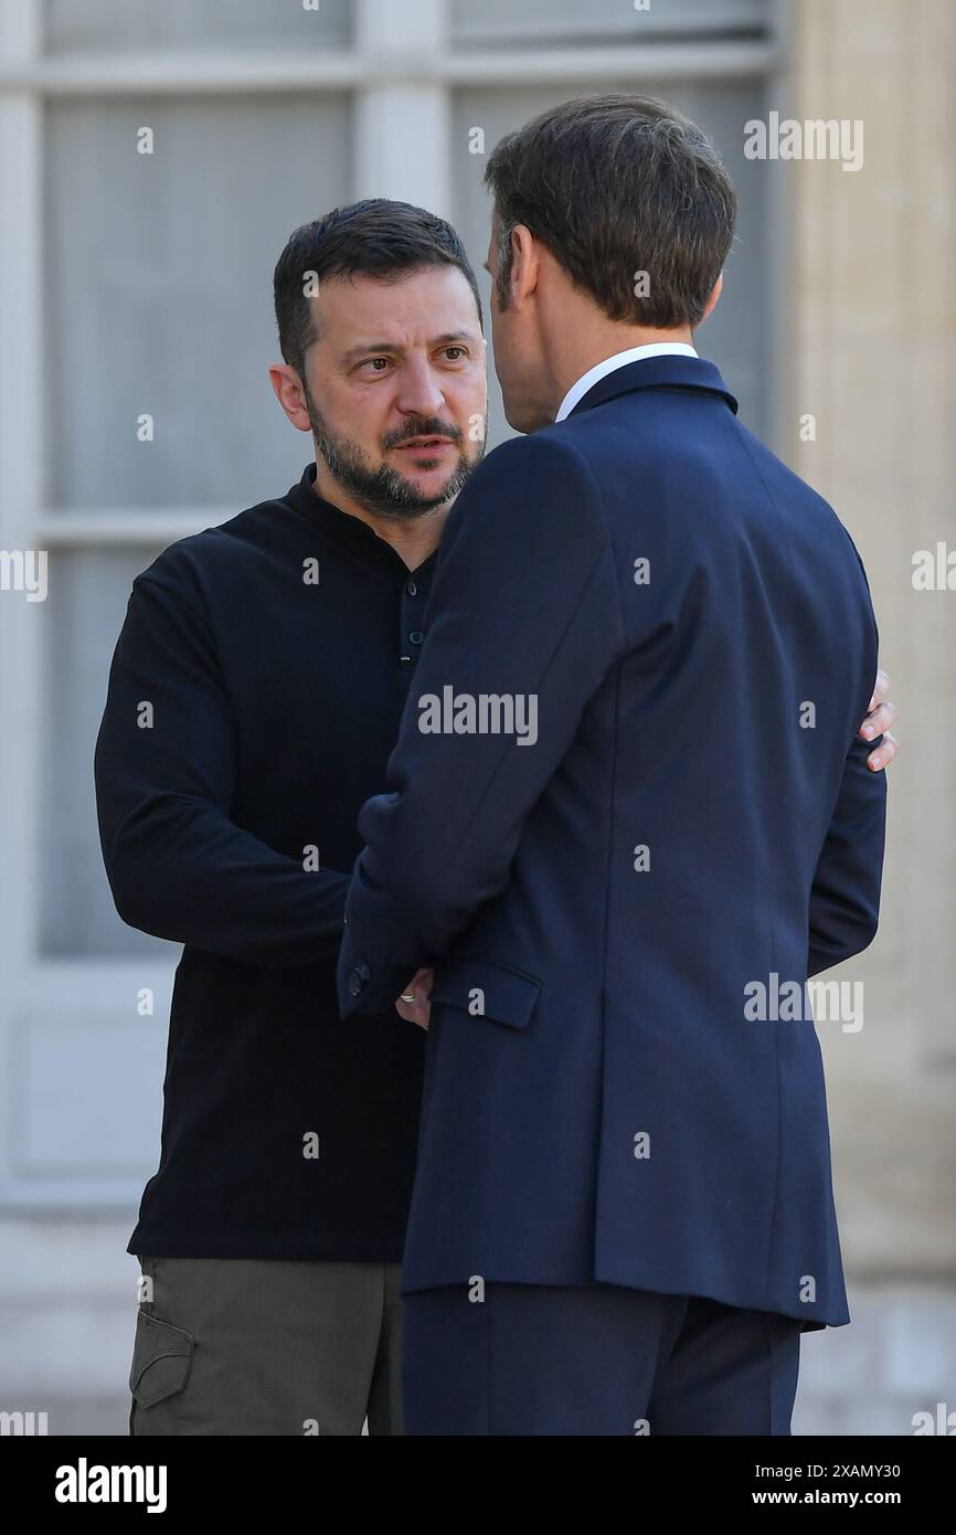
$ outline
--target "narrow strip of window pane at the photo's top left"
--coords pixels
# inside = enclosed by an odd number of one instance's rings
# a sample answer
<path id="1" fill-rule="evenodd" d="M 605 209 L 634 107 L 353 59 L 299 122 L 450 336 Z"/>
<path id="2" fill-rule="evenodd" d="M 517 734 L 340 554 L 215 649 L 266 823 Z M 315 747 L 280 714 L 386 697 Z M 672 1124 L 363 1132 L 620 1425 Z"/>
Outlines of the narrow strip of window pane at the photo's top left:
<path id="1" fill-rule="evenodd" d="M 51 52 L 347 48 L 350 35 L 350 0 L 46 0 Z"/>

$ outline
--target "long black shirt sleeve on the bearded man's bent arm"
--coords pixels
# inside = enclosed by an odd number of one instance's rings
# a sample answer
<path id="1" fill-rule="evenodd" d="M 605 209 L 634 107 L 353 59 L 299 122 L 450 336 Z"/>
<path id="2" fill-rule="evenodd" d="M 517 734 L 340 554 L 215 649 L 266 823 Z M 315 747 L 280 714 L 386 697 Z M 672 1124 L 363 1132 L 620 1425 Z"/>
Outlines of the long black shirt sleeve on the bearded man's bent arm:
<path id="1" fill-rule="evenodd" d="M 97 817 L 117 910 L 157 938 L 233 959 L 333 958 L 348 876 L 310 873 L 230 818 L 232 706 L 204 616 L 169 556 L 134 582 L 97 737 Z"/>

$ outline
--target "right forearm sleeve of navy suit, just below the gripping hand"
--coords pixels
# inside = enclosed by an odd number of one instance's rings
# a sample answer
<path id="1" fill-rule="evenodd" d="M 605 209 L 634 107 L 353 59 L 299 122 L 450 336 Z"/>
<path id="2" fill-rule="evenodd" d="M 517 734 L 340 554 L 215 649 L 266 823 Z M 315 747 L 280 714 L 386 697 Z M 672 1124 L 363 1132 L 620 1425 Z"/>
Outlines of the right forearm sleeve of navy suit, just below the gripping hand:
<path id="1" fill-rule="evenodd" d="M 873 741 L 853 740 L 810 889 L 807 976 L 859 953 L 876 936 L 887 775 L 867 768 Z"/>

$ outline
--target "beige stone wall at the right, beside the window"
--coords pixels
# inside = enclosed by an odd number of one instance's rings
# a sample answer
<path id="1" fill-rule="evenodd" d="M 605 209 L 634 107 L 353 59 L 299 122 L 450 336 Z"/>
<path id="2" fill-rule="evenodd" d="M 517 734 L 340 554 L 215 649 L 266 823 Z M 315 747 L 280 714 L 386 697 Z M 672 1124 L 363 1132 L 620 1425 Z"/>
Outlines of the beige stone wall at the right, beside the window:
<path id="1" fill-rule="evenodd" d="M 859 1035 L 821 1028 L 850 1283 L 956 1274 L 956 6 L 798 0 L 781 109 L 864 121 L 864 166 L 780 166 L 793 230 L 789 459 L 867 565 L 901 708 L 882 932 L 844 973 Z M 775 104 L 775 103 L 770 103 Z M 816 442 L 798 436 L 816 416 Z"/>

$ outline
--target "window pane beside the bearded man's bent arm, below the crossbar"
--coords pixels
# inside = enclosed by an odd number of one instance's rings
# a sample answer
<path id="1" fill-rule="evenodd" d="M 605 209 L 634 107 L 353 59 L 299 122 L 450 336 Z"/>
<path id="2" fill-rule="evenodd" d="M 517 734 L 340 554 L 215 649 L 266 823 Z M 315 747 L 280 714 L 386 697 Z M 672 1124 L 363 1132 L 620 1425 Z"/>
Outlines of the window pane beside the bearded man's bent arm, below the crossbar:
<path id="1" fill-rule="evenodd" d="M 160 550 L 51 550 L 38 827 L 45 955 L 170 955 L 117 916 L 100 853 L 94 746 L 134 577 Z"/>

